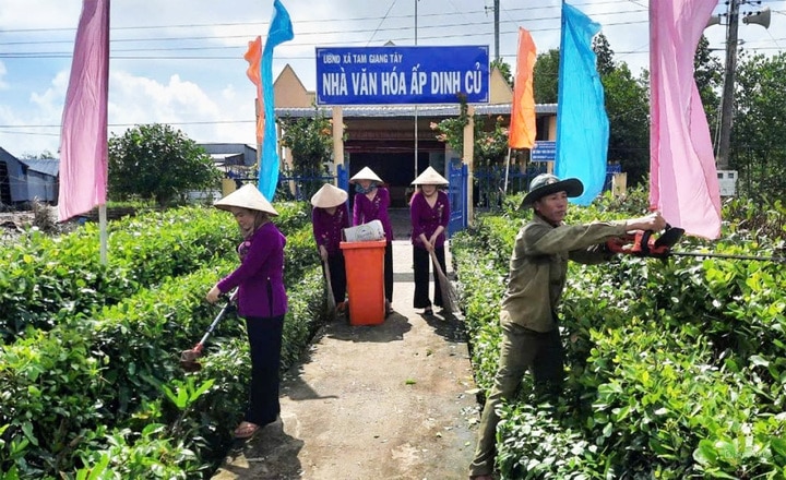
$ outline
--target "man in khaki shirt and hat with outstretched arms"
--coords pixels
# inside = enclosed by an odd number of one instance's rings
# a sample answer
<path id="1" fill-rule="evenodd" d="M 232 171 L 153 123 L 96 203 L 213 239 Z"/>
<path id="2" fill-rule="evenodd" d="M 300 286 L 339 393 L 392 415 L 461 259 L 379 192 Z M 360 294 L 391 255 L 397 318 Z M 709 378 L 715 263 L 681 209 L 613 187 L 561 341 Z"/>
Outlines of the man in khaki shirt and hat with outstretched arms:
<path id="1" fill-rule="evenodd" d="M 491 480 L 499 405 L 511 398 L 529 369 L 538 394 L 559 395 L 564 377 L 557 310 L 565 285 L 568 261 L 595 264 L 614 255 L 606 240 L 632 230 L 659 231 L 666 220 L 659 213 L 619 221 L 564 225 L 568 199 L 579 196 L 577 179 L 560 180 L 550 173 L 535 177 L 522 208 L 533 219 L 519 231 L 510 261 L 510 279 L 502 299 L 502 345 L 495 384 L 489 392 L 469 478 Z"/>

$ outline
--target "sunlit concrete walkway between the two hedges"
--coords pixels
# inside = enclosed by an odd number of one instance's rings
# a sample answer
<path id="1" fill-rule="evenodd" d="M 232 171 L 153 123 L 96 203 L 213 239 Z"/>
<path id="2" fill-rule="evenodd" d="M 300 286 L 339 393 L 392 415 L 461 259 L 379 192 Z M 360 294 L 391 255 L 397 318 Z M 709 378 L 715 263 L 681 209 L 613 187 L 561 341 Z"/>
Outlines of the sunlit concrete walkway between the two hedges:
<path id="1" fill-rule="evenodd" d="M 214 479 L 467 478 L 479 413 L 463 325 L 413 309 L 412 245 L 393 243 L 394 313 L 326 325 L 283 380 L 281 421 Z"/>

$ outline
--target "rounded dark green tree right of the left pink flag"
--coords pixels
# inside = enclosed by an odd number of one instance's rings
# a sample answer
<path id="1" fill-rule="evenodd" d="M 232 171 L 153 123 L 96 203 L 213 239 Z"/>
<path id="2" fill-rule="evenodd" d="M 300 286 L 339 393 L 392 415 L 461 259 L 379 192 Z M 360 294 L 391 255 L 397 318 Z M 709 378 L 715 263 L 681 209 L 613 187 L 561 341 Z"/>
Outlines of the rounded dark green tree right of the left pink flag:
<path id="1" fill-rule="evenodd" d="M 219 178 L 205 149 L 169 125 L 138 125 L 109 139 L 109 193 L 117 200 L 153 199 L 164 206 Z"/>

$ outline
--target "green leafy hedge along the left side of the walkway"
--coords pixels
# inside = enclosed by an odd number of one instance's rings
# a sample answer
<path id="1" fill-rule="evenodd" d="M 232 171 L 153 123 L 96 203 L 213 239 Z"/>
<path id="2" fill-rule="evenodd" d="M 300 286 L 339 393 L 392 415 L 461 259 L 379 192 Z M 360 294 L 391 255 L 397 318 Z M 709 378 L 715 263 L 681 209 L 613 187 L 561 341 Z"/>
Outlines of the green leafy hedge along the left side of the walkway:
<path id="1" fill-rule="evenodd" d="M 315 250 L 310 224 L 298 218 L 303 208 L 297 204 L 278 208 L 281 224 L 299 226 L 285 231 L 286 265 L 298 265 L 299 273 L 287 280 L 290 309 L 282 370 L 298 359 L 325 313 L 318 259 L 301 255 Z M 178 217 L 183 213 L 188 221 Z M 210 221 L 213 215 L 225 228 Z M 163 218 L 172 221 L 159 224 Z M 211 266 L 184 274 L 187 269 L 177 265 L 136 256 L 134 262 L 165 271 L 155 285 L 135 287 L 114 304 L 95 303 L 81 313 L 61 309 L 48 331 L 28 327 L 24 336 L 0 348 L 3 478 L 195 479 L 223 460 L 231 442 L 230 425 L 239 420 L 248 398 L 245 324 L 234 313 L 223 319 L 200 359 L 203 370 L 195 374 L 184 375 L 178 357 L 213 321 L 217 310 L 203 296 L 237 265 L 234 251 L 239 235 L 231 217 L 214 209 L 152 214 L 142 220 L 118 223 L 129 228 L 129 237 L 118 225 L 114 236 L 123 238 L 130 251 L 151 252 L 162 247 L 152 240 L 153 232 L 166 239 L 164 233 L 174 230 L 213 252 L 201 261 Z M 203 230 L 217 230 L 229 241 Z M 300 244 L 306 239 L 309 242 Z M 73 260 L 68 252 L 62 259 Z M 177 256 L 171 245 L 164 252 L 181 263 L 189 261 Z M 126 266 L 130 273 L 139 269 L 131 263 Z M 105 285 L 96 289 L 100 287 Z"/>

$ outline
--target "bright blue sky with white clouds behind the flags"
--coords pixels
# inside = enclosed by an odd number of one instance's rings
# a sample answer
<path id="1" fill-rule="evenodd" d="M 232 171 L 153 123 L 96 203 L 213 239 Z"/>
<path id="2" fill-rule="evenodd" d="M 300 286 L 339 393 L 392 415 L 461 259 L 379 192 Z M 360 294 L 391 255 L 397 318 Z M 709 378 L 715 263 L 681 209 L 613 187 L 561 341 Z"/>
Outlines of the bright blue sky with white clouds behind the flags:
<path id="1" fill-rule="evenodd" d="M 654 1 L 654 0 L 653 0 Z M 290 64 L 313 91 L 317 47 L 488 45 L 515 70 L 517 28 L 538 52 L 559 47 L 559 0 L 282 0 L 295 38 L 274 50 L 273 77 Z M 646 0 L 568 3 L 602 25 L 634 74 L 648 63 Z M 770 28 L 739 23 L 742 48 L 774 55 L 786 48 L 786 0 L 743 4 L 740 14 L 769 7 Z M 0 0 L 0 147 L 12 155 L 55 157 L 71 69 L 79 0 Z M 725 13 L 718 1 L 715 14 Z M 166 123 L 199 143 L 254 144 L 255 87 L 243 53 L 264 41 L 273 0 L 111 0 L 109 136 L 136 124 Z M 722 20 L 725 23 L 725 19 Z M 724 61 L 724 25 L 705 29 Z"/>

